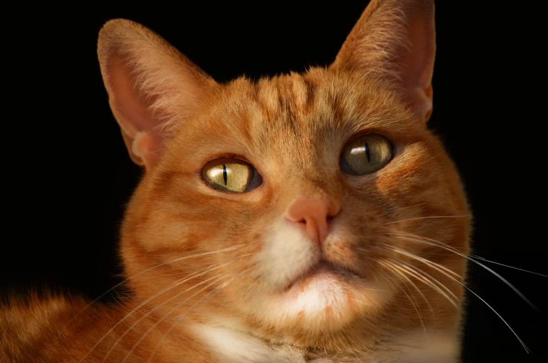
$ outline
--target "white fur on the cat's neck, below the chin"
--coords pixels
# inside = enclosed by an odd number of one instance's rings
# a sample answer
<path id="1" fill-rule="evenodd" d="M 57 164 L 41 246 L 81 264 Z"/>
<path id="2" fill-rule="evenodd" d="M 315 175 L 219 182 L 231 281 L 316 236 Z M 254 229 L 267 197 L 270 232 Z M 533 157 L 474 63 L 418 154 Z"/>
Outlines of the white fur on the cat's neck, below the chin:
<path id="1" fill-rule="evenodd" d="M 323 349 L 297 348 L 290 343 L 269 343 L 244 329 L 235 321 L 215 317 L 208 323 L 194 323 L 190 332 L 208 347 L 221 362 L 250 363 L 373 363 L 383 360 L 399 363 L 454 363 L 459 346 L 452 334 L 420 329 L 394 334 L 380 343 L 382 350 L 329 352 Z"/>

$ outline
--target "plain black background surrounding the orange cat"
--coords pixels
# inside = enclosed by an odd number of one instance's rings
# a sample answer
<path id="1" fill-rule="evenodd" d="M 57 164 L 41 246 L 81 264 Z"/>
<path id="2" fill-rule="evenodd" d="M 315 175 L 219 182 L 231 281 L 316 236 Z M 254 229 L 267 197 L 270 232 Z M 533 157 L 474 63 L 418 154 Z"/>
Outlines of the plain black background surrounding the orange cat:
<path id="1" fill-rule="evenodd" d="M 43 286 L 96 297 L 119 281 L 117 233 L 138 182 L 96 60 L 101 25 L 135 20 L 216 80 L 304 71 L 333 61 L 366 3 L 257 3 L 8 12 L 3 32 L 1 292 Z M 445 142 L 475 216 L 477 255 L 548 274 L 545 262 L 545 46 L 539 9 L 438 1 L 430 126 Z M 548 279 L 489 265 L 538 306 L 471 266 L 464 362 L 540 362 Z M 112 299 L 108 295 L 106 299 Z M 488 357 L 480 359 L 478 357 Z"/>

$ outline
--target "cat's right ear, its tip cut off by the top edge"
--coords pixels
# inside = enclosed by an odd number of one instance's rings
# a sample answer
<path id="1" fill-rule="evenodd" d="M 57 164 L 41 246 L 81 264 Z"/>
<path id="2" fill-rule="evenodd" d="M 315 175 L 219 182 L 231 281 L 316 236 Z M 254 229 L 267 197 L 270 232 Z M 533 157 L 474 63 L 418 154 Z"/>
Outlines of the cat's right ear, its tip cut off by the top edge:
<path id="1" fill-rule="evenodd" d="M 426 122 L 435 53 L 434 0 L 372 0 L 331 68 L 391 82 Z"/>

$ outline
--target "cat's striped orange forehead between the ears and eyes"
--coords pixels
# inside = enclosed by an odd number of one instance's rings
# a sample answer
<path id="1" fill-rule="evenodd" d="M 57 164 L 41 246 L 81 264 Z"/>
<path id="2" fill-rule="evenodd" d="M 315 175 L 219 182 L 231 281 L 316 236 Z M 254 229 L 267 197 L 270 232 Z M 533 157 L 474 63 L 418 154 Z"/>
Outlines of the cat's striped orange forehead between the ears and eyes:
<path id="1" fill-rule="evenodd" d="M 410 138 L 420 123 L 397 94 L 361 75 L 313 68 L 251 82 L 239 78 L 214 89 L 212 101 L 179 135 L 194 151 L 237 154 L 253 161 L 287 158 L 306 165 L 360 132 Z M 422 127 L 424 128 L 424 126 Z"/>

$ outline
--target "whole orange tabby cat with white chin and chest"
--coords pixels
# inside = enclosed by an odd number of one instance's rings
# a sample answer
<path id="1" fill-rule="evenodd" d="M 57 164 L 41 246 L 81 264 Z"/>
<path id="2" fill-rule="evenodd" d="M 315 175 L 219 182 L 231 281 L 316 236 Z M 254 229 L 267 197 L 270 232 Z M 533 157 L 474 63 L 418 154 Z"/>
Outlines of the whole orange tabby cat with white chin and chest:
<path id="1" fill-rule="evenodd" d="M 145 173 L 131 295 L 14 299 L 2 362 L 459 362 L 471 212 L 427 128 L 434 1 L 373 0 L 333 64 L 215 82 L 154 32 L 98 38 Z"/>

